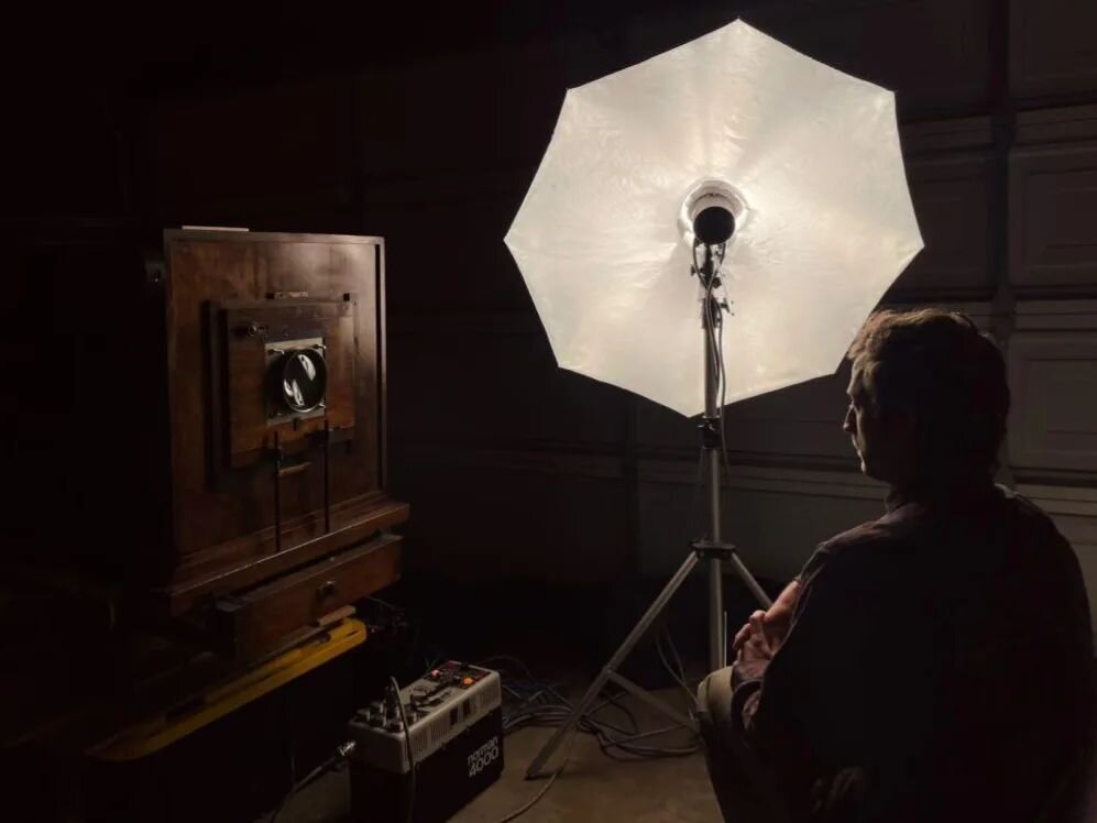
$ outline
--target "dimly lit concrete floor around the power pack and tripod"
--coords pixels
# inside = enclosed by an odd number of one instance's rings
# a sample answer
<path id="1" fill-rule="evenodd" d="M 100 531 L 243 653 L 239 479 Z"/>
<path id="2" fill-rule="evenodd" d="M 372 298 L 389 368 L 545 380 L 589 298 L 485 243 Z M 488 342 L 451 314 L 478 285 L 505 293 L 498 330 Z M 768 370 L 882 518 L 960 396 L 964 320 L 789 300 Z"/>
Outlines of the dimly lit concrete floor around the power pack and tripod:
<path id="1" fill-rule="evenodd" d="M 684 709 L 681 690 L 657 692 Z M 669 725 L 635 699 L 628 699 L 644 729 Z M 523 728 L 505 739 L 503 776 L 451 819 L 451 823 L 496 823 L 528 802 L 545 782 L 525 780 L 525 770 L 548 739 L 549 728 Z M 692 736 L 678 729 L 651 745 L 687 747 Z M 571 748 L 567 767 L 553 786 L 518 820 L 524 823 L 720 823 L 704 758 L 685 757 L 621 762 L 606 757 L 591 735 L 575 736 L 557 750 L 549 768 Z M 278 815 L 278 823 L 347 823 L 349 784 L 345 769 L 329 773 L 297 794 Z M 264 815 L 256 823 L 267 823 Z M 394 823 L 398 823 L 394 821 Z"/>

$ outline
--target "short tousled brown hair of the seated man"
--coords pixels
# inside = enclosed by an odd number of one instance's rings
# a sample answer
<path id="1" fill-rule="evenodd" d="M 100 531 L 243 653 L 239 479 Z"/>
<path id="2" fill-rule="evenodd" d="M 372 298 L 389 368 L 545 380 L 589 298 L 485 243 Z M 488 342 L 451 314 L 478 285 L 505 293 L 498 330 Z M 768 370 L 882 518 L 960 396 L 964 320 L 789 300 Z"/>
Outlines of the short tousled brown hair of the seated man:
<path id="1" fill-rule="evenodd" d="M 994 339 L 957 311 L 874 312 L 846 356 L 871 408 L 913 412 L 920 469 L 990 471 L 1006 436 L 1009 385 Z"/>

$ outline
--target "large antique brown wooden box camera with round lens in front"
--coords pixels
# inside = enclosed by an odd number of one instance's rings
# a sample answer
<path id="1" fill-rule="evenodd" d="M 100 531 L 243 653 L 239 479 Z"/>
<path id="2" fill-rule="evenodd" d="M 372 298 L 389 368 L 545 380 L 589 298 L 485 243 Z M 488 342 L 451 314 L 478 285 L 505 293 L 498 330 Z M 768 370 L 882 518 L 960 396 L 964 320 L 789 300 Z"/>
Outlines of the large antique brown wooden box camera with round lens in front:
<path id="1" fill-rule="evenodd" d="M 164 311 L 168 469 L 147 479 L 166 494 L 147 524 L 145 605 L 246 652 L 399 575 L 384 244 L 185 229 L 146 268 Z"/>

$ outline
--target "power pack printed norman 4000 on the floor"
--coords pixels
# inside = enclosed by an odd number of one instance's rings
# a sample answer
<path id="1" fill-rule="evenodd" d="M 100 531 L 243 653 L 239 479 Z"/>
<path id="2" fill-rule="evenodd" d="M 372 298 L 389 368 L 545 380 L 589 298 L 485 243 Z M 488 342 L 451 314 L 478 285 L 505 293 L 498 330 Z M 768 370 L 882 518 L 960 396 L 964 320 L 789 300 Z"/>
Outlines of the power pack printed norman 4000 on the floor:
<path id="1" fill-rule="evenodd" d="M 350 739 L 355 823 L 442 823 L 503 773 L 498 672 L 450 660 L 359 710 Z"/>

